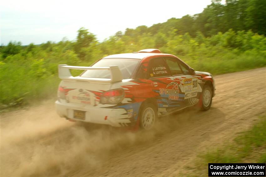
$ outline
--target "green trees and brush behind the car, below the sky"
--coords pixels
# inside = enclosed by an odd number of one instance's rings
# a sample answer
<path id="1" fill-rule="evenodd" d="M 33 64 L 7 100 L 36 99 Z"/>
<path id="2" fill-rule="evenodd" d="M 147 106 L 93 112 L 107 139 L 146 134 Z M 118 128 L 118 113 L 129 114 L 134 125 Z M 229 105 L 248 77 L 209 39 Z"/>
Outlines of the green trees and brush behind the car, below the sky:
<path id="1" fill-rule="evenodd" d="M 255 7 L 263 12 L 265 2 L 227 0 L 223 5 L 216 0 L 200 14 L 171 18 L 151 27 L 127 28 L 103 42 L 84 27 L 75 41 L 63 38 L 58 43 L 28 46 L 11 41 L 0 46 L 0 103 L 21 105 L 54 97 L 60 81 L 58 64 L 89 66 L 110 54 L 144 48 L 171 53 L 195 70 L 214 75 L 265 66 L 265 15 L 261 11 L 254 14 Z"/>

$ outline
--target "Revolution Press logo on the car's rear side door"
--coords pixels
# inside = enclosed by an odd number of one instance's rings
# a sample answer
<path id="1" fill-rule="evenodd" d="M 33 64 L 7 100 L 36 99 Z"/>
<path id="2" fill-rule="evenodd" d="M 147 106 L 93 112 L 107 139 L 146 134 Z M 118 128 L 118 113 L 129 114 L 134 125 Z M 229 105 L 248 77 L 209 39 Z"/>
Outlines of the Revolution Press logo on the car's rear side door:
<path id="1" fill-rule="evenodd" d="M 176 82 L 171 82 L 166 88 L 159 89 L 160 95 L 168 95 L 168 100 L 178 100 L 179 98 L 179 87 Z"/>

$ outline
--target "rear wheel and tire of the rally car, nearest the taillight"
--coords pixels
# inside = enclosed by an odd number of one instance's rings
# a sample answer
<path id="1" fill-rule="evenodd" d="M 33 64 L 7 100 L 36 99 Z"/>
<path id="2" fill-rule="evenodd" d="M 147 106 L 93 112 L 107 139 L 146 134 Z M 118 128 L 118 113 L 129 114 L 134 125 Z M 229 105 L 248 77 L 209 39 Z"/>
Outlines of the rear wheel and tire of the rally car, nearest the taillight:
<path id="1" fill-rule="evenodd" d="M 150 103 L 145 104 L 141 108 L 140 128 L 143 130 L 151 130 L 157 122 L 156 107 Z"/>

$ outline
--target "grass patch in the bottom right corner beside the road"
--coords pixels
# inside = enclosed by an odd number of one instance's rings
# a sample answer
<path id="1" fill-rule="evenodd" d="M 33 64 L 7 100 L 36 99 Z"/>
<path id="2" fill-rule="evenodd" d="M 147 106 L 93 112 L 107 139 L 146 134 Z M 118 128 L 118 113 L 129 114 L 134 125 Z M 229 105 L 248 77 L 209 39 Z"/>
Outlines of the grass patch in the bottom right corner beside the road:
<path id="1" fill-rule="evenodd" d="M 246 132 L 240 133 L 233 142 L 198 155 L 189 173 L 182 176 L 208 176 L 208 163 L 266 163 L 266 116 Z"/>

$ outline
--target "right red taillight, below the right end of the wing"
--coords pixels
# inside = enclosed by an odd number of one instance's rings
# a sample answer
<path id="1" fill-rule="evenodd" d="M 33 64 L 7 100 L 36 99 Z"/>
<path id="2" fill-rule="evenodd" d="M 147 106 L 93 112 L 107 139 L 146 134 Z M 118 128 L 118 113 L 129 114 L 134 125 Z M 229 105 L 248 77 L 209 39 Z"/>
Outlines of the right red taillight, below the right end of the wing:
<path id="1" fill-rule="evenodd" d="M 101 104 L 118 104 L 125 97 L 125 92 L 123 89 L 114 89 L 105 91 L 101 94 L 100 103 Z"/>

